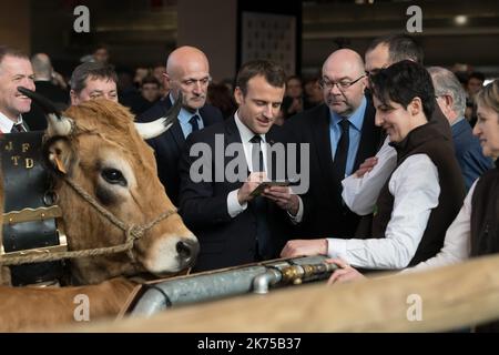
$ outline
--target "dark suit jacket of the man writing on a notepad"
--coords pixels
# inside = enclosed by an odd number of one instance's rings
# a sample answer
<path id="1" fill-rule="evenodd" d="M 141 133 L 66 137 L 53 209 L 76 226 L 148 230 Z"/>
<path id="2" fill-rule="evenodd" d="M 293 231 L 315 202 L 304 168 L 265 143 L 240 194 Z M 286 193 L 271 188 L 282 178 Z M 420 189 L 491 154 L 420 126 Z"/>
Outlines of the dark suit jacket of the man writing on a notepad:
<path id="1" fill-rule="evenodd" d="M 277 142 L 279 128 L 273 129 L 266 134 L 269 144 Z M 197 236 L 200 241 L 200 255 L 197 256 L 195 271 L 206 271 L 221 267 L 241 265 L 257 261 L 256 257 L 256 216 L 248 205 L 247 209 L 231 217 L 227 211 L 227 195 L 231 191 L 240 189 L 244 181 L 230 182 L 225 178 L 223 181 L 214 181 L 215 169 L 225 166 L 234 156 L 225 156 L 224 152 L 216 152 L 215 134 L 224 138 L 224 151 L 231 143 L 241 143 L 241 135 L 235 124 L 234 116 L 225 122 L 214 124 L 205 130 L 195 132 L 187 138 L 185 151 L 180 161 L 181 192 L 180 192 L 180 214 L 186 226 Z M 191 180 L 190 168 L 197 156 L 190 156 L 190 149 L 195 143 L 206 143 L 212 150 L 211 180 L 214 182 L 198 182 Z M 224 154 L 224 165 L 215 165 L 215 154 Z M 242 154 L 244 154 L 242 152 Z M 246 162 L 242 156 L 242 161 Z M 269 164 L 275 162 L 269 162 Z M 247 165 L 244 170 L 247 176 Z M 275 172 L 275 169 L 273 169 Z M 225 175 L 224 175 L 225 176 Z M 273 178 L 273 176 L 271 176 Z M 265 255 L 262 258 L 276 257 L 284 246 L 284 231 L 286 221 L 285 212 L 274 203 L 266 200 L 267 221 L 271 241 Z M 289 222 L 291 225 L 291 222 Z"/>

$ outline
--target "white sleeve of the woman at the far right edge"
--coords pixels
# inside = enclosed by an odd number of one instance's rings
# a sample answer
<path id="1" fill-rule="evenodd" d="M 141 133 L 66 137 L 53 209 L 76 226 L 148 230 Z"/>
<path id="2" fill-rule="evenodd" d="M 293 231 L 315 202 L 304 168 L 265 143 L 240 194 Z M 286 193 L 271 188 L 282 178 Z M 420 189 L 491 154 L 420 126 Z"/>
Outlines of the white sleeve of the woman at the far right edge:
<path id="1" fill-rule="evenodd" d="M 471 252 L 471 197 L 477 181 L 472 184 L 458 215 L 450 224 L 444 240 L 444 247 L 431 258 L 407 268 L 406 272 L 429 270 L 460 263 L 469 257 Z"/>

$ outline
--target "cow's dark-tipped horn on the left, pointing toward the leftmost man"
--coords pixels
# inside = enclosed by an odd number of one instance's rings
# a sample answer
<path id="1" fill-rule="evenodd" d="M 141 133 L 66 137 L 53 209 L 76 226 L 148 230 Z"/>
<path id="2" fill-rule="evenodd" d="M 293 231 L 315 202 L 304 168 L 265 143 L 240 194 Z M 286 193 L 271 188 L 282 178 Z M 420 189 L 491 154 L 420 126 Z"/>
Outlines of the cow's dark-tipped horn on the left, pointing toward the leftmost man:
<path id="1" fill-rule="evenodd" d="M 23 87 L 18 87 L 18 91 L 37 102 L 47 114 L 49 135 L 69 135 L 71 133 L 73 129 L 72 120 L 62 116 L 52 101 Z"/>

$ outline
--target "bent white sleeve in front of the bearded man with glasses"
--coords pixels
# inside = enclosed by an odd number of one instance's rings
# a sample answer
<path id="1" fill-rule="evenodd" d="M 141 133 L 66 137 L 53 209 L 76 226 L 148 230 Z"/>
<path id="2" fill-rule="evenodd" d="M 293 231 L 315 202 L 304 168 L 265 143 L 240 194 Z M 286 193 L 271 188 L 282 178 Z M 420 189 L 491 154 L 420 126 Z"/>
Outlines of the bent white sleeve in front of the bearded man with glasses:
<path id="1" fill-rule="evenodd" d="M 355 174 L 342 181 L 342 196 L 348 209 L 358 215 L 373 213 L 379 192 L 385 185 L 389 175 L 397 166 L 397 152 L 390 145 L 387 136 L 381 149 L 376 153 L 378 163 L 364 176 L 357 178 Z"/>

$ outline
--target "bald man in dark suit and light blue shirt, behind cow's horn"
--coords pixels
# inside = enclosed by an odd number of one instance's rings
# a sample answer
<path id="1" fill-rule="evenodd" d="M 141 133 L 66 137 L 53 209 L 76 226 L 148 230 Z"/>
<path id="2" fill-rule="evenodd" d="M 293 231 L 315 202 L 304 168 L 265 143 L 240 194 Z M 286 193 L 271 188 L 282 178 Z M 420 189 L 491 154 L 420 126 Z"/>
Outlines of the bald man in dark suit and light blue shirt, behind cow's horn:
<path id="1" fill-rule="evenodd" d="M 157 175 L 174 205 L 179 205 L 179 158 L 185 139 L 193 131 L 223 121 L 222 112 L 206 105 L 210 64 L 206 55 L 196 48 L 181 47 L 174 50 L 166 62 L 165 88 L 170 94 L 138 116 L 138 122 L 151 122 L 164 116 L 172 102 L 182 93 L 182 110 L 179 120 L 165 133 L 149 140 L 154 149 Z"/>

